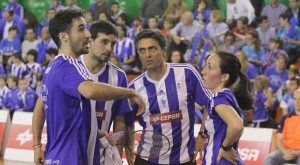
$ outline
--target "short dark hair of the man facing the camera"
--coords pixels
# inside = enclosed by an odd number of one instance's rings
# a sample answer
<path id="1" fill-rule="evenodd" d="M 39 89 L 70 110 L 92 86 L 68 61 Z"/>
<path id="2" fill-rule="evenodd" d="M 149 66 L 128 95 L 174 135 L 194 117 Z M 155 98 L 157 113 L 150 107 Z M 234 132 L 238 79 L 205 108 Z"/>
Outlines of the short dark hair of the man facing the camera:
<path id="1" fill-rule="evenodd" d="M 165 48 L 166 47 L 166 39 L 161 34 L 161 32 L 159 30 L 157 30 L 157 29 L 144 29 L 141 32 L 139 32 L 137 34 L 137 36 L 136 36 L 135 44 L 137 45 L 137 43 L 141 39 L 145 39 L 145 38 L 154 39 L 156 42 L 158 42 L 158 44 L 159 44 L 159 46 L 161 48 Z"/>

